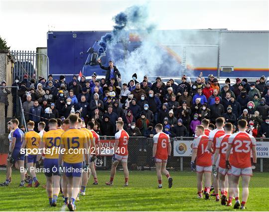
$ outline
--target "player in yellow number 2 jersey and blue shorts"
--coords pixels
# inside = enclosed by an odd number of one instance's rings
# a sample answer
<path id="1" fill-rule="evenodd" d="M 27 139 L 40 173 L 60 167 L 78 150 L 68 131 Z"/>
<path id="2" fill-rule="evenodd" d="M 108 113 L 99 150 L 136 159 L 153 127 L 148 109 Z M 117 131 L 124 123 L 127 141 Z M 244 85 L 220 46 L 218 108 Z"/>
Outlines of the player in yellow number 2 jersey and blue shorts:
<path id="1" fill-rule="evenodd" d="M 29 171 L 32 179 L 34 180 L 35 184 L 34 187 L 38 187 L 40 183 L 37 181 L 36 174 L 35 174 L 35 163 L 38 153 L 38 148 L 41 143 L 41 137 L 38 135 L 38 133 L 34 132 L 34 122 L 29 121 L 27 123 L 28 132 L 24 134 L 24 141 L 21 145 L 21 148 L 26 148 L 31 150 L 31 153 L 27 155 L 26 157 L 26 166 L 27 170 Z M 32 167 L 32 168 L 31 168 Z M 32 179 L 29 180 L 29 184 L 27 187 L 32 187 Z"/>

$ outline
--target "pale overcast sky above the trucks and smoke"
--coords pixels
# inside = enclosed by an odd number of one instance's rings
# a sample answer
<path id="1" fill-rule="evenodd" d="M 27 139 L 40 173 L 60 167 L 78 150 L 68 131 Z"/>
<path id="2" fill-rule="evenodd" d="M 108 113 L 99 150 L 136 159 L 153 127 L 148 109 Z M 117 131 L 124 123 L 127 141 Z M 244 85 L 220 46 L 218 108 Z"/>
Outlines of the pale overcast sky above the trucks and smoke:
<path id="1" fill-rule="evenodd" d="M 11 50 L 35 50 L 48 30 L 111 30 L 114 15 L 145 2 L 159 29 L 269 30 L 269 0 L 0 0 L 0 36 Z"/>

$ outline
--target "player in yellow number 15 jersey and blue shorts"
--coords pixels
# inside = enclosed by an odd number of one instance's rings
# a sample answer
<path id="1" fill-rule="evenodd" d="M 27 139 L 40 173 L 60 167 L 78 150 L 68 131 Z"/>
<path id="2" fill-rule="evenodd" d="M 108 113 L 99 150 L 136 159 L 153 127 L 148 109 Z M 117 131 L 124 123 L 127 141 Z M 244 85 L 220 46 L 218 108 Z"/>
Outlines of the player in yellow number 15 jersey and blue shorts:
<path id="1" fill-rule="evenodd" d="M 80 182 L 83 169 L 89 166 L 89 155 L 87 154 L 87 138 L 84 131 L 78 130 L 78 116 L 69 116 L 70 128 L 61 136 L 61 146 L 59 154 L 59 164 L 62 164 L 67 177 L 67 189 L 70 211 L 75 211 L 75 200 L 79 194 Z M 64 150 L 64 152 L 62 152 Z M 83 160 L 85 158 L 85 166 Z M 85 170 L 86 171 L 86 170 Z M 70 199 L 71 198 L 71 199 Z"/>

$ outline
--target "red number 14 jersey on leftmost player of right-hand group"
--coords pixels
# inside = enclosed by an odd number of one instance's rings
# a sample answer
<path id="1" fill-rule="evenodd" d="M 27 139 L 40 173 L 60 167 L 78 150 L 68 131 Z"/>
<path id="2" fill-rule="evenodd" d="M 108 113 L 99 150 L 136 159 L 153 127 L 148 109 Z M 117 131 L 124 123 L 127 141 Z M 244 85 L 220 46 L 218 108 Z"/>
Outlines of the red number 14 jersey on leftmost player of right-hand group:
<path id="1" fill-rule="evenodd" d="M 193 140 L 192 148 L 197 148 L 196 165 L 211 166 L 212 153 L 207 149 L 208 137 L 203 135 Z"/>

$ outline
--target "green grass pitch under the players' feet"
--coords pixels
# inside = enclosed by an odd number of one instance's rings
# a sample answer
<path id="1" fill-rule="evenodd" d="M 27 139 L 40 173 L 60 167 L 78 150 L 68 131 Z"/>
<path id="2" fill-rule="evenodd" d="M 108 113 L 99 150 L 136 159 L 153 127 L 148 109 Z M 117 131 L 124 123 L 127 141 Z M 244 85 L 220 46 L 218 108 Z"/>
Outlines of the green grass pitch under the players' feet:
<path id="1" fill-rule="evenodd" d="M 221 206 L 210 200 L 197 199 L 196 174 L 192 172 L 170 172 L 173 187 L 168 189 L 163 177 L 163 189 L 157 189 L 154 171 L 130 171 L 129 187 L 123 187 L 123 171 L 118 171 L 114 186 L 106 186 L 109 171 L 97 171 L 99 185 L 94 186 L 91 177 L 86 196 L 76 202 L 77 211 L 235 211 L 233 207 Z M 37 174 L 41 185 L 45 176 Z M 0 181 L 5 180 L 5 171 L 0 171 Z M 68 211 L 63 208 L 61 194 L 57 207 L 48 204 L 46 190 L 38 188 L 19 188 L 19 172 L 12 172 L 12 182 L 8 187 L 0 187 L 0 211 Z M 240 200 L 242 190 L 240 189 Z M 269 211 L 269 173 L 254 173 L 250 184 L 247 211 Z M 233 200 L 233 204 L 235 201 Z M 240 211 L 240 210 L 238 210 Z"/>

